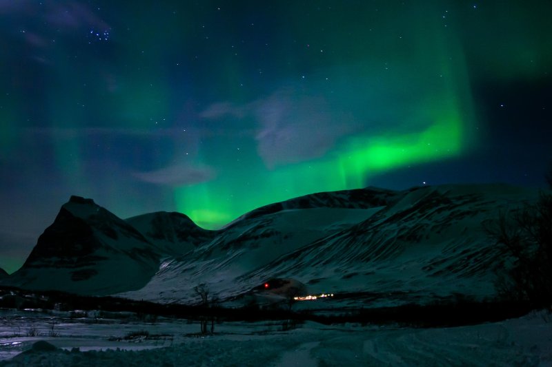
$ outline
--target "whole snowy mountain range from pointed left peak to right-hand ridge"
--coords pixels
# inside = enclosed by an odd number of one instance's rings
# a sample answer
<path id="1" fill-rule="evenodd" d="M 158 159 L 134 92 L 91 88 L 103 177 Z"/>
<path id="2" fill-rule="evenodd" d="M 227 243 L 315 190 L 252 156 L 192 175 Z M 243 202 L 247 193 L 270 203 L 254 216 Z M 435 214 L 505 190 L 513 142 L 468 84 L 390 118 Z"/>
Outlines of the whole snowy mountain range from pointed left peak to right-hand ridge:
<path id="1" fill-rule="evenodd" d="M 230 305 L 250 302 L 244 295 L 272 278 L 348 295 L 342 306 L 481 299 L 494 294 L 503 261 L 482 224 L 537 194 L 506 185 L 314 193 L 219 231 L 179 213 L 125 221 L 73 197 L 3 283 L 190 304 L 201 300 L 199 284 Z"/>

